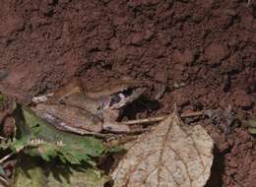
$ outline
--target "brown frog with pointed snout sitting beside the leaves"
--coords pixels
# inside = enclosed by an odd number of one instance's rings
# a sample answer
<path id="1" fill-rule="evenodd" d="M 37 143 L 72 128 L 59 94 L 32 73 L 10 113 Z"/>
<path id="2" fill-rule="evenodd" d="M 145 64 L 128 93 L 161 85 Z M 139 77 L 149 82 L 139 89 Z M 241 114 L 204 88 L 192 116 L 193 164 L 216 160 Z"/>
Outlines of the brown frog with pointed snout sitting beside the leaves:
<path id="1" fill-rule="evenodd" d="M 145 82 L 123 78 L 89 90 L 74 79 L 53 94 L 33 97 L 31 109 L 62 131 L 80 135 L 131 133 L 133 130 L 117 119 L 123 108 L 148 88 Z"/>

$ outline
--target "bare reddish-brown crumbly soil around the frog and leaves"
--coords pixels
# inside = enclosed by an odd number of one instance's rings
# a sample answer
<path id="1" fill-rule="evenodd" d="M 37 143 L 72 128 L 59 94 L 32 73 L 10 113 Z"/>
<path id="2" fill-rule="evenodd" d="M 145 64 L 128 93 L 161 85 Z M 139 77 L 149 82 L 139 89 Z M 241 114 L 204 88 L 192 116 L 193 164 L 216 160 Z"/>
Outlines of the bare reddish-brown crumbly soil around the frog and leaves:
<path id="1" fill-rule="evenodd" d="M 254 0 L 2 0 L 0 86 L 27 99 L 73 77 L 95 87 L 130 76 L 151 82 L 153 96 L 166 84 L 157 113 L 176 102 L 183 111 L 231 106 L 249 118 L 255 31 Z M 208 186 L 255 185 L 255 137 L 241 126 L 226 135 L 197 123 L 216 143 Z"/>

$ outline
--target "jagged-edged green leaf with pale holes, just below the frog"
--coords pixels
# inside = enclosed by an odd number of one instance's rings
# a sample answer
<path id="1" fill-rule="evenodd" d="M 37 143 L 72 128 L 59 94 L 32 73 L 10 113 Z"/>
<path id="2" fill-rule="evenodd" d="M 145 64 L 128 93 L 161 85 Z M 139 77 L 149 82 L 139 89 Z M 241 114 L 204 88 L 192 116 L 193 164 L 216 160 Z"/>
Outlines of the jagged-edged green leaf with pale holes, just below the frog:
<path id="1" fill-rule="evenodd" d="M 86 161 L 93 165 L 96 165 L 96 157 L 105 156 L 110 151 L 94 137 L 80 136 L 56 129 L 37 117 L 26 106 L 21 106 L 21 111 L 24 120 L 17 119 L 20 122 L 18 128 L 20 133 L 18 133 L 18 141 L 12 147 L 14 150 L 26 147 L 27 154 L 41 156 L 45 160 L 59 157 L 63 162 L 79 164 Z M 28 140 L 30 140 L 29 143 Z M 41 144 L 32 144 L 36 141 Z"/>

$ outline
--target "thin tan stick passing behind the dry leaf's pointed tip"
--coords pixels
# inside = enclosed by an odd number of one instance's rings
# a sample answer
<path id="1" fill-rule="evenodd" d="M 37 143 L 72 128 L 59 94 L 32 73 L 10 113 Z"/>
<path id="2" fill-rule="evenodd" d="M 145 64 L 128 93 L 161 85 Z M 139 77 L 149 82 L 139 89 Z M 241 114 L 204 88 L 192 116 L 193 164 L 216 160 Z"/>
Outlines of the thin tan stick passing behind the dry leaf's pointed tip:
<path id="1" fill-rule="evenodd" d="M 195 111 L 195 112 L 189 112 L 189 113 L 184 113 L 181 114 L 181 118 L 188 118 L 188 117 L 197 117 L 204 115 L 204 111 Z M 158 116 L 158 117 L 150 117 L 146 119 L 135 119 L 135 120 L 129 120 L 129 121 L 124 121 L 123 123 L 125 125 L 134 125 L 134 124 L 146 124 L 146 123 L 154 123 L 154 122 L 159 122 L 165 119 L 168 115 L 163 115 L 163 116 Z"/>

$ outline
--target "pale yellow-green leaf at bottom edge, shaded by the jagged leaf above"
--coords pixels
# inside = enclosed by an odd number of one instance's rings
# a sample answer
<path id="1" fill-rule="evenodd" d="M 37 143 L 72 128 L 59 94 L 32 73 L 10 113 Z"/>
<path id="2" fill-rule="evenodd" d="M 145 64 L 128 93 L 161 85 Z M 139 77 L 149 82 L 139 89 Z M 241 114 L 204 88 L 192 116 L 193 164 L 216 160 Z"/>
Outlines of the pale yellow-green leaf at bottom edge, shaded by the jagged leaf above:
<path id="1" fill-rule="evenodd" d="M 37 160 L 29 157 L 20 160 L 14 187 L 103 187 L 110 179 L 95 167 L 71 167 L 49 162 L 38 165 Z"/>

